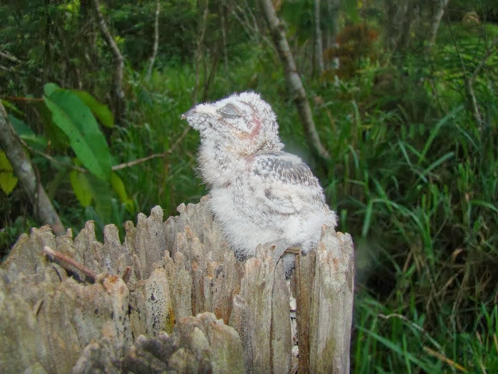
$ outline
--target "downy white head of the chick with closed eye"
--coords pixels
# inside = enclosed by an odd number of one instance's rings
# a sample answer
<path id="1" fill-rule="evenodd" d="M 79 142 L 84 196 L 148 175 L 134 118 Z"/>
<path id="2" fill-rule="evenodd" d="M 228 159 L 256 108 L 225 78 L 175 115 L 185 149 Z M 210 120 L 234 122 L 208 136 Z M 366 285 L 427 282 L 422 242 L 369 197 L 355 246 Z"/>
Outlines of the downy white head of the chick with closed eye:
<path id="1" fill-rule="evenodd" d="M 283 147 L 275 112 L 254 92 L 198 104 L 181 118 L 199 131 L 201 142 L 212 142 L 232 152 L 278 151 Z"/>

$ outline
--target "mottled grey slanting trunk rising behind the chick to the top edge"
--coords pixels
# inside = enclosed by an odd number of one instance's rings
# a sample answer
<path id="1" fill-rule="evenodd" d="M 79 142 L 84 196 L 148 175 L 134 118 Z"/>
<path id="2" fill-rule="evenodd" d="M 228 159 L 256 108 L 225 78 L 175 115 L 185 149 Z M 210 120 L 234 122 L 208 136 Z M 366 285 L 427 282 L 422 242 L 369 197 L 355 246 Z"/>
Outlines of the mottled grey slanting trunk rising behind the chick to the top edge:
<path id="1" fill-rule="evenodd" d="M 289 43 L 287 42 L 287 38 L 285 36 L 284 26 L 280 22 L 280 19 L 278 19 L 271 0 L 261 0 L 261 5 L 266 22 L 268 23 L 273 37 L 273 42 L 275 43 L 285 70 L 287 86 L 294 98 L 294 102 L 296 103 L 297 111 L 301 117 L 301 122 L 308 141 L 318 156 L 328 161 L 330 160 L 330 155 L 322 145 L 320 137 L 316 131 L 315 121 L 313 120 L 313 116 L 311 114 L 311 107 L 306 95 L 306 90 L 304 89 L 301 77 L 297 73 L 294 57 L 292 56 Z"/>

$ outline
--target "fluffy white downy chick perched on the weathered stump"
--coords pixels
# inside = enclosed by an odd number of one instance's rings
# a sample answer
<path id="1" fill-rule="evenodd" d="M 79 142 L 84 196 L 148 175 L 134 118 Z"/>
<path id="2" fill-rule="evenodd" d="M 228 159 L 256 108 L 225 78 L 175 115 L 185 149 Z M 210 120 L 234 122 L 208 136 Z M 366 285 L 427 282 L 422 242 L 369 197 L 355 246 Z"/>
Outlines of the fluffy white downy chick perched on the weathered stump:
<path id="1" fill-rule="evenodd" d="M 320 240 L 323 224 L 335 227 L 322 187 L 297 156 L 284 152 L 271 106 L 254 92 L 198 104 L 181 116 L 199 131 L 199 170 L 209 187 L 210 209 L 239 257 L 258 244 L 305 254 Z M 274 257 L 275 258 L 275 257 Z M 283 256 L 286 274 L 294 256 Z"/>

